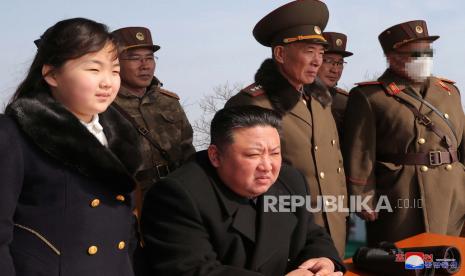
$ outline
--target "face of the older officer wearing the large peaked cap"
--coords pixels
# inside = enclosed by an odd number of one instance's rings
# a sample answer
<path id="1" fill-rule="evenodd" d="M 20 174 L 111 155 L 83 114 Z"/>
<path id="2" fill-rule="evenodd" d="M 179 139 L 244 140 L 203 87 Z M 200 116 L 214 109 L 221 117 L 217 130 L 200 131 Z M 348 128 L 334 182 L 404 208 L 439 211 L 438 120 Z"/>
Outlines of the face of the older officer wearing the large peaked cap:
<path id="1" fill-rule="evenodd" d="M 312 83 L 323 62 L 324 48 L 320 44 L 294 42 L 273 48 L 278 69 L 299 90 L 304 84 Z"/>

